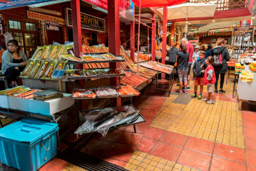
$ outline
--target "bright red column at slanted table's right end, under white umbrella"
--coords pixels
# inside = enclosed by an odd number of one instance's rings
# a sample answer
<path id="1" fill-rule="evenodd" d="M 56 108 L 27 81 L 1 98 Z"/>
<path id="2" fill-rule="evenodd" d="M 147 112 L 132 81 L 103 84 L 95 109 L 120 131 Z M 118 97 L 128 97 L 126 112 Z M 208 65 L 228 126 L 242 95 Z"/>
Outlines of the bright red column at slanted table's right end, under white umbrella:
<path id="1" fill-rule="evenodd" d="M 167 7 L 164 7 L 163 11 L 163 47 L 162 47 L 162 64 L 165 64 L 165 57 L 166 57 L 166 43 L 167 43 L 167 37 L 166 37 L 166 31 L 167 31 Z M 162 78 L 165 78 L 165 74 L 161 74 Z"/>

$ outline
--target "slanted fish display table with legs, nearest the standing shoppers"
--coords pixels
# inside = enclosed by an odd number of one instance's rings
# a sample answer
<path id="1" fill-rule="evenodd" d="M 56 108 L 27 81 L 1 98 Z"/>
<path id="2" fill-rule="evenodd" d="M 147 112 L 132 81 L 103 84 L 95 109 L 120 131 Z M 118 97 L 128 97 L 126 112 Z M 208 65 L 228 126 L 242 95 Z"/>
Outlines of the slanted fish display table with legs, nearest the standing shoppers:
<path id="1" fill-rule="evenodd" d="M 162 72 L 162 73 L 165 73 L 165 74 L 169 75 L 169 83 L 168 83 L 167 90 L 166 89 L 160 89 L 160 88 L 153 88 L 153 87 L 151 87 L 151 88 L 157 89 L 157 90 L 168 91 L 169 92 L 168 96 L 170 96 L 172 85 L 173 85 L 173 81 L 174 81 L 174 72 L 173 72 L 174 66 L 165 65 L 165 64 L 162 64 L 162 63 L 156 62 L 156 61 L 146 61 L 146 62 L 141 63 L 140 65 L 143 66 L 143 67 L 146 67 L 148 69 L 151 69 L 151 70 L 154 70 L 154 71 L 158 71 L 158 72 Z M 156 84 L 157 84 L 158 78 L 161 79 L 161 77 L 157 76 L 156 77 Z"/>

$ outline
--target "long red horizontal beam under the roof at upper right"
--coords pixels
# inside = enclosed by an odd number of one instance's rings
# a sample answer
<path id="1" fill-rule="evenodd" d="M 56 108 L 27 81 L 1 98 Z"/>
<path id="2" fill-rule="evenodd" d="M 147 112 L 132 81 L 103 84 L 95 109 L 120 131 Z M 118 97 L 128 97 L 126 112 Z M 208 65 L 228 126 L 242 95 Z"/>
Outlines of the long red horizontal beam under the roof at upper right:
<path id="1" fill-rule="evenodd" d="M 251 13 L 248 8 L 232 9 L 215 11 L 213 17 L 200 17 L 200 18 L 188 18 L 188 21 L 193 20 L 207 20 L 207 19 L 218 19 L 218 18 L 230 18 L 230 17 L 243 17 L 250 16 Z M 186 21 L 186 18 L 175 19 L 175 22 Z"/>

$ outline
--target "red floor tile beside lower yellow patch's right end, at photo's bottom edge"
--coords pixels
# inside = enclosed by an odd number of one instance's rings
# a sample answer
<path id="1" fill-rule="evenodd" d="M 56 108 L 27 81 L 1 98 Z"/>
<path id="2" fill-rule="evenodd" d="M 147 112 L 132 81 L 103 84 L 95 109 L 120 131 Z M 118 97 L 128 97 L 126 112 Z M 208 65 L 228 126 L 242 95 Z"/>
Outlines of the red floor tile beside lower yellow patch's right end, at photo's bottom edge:
<path id="1" fill-rule="evenodd" d="M 208 171 L 210 161 L 211 155 L 183 149 L 177 163 L 202 171 Z"/>

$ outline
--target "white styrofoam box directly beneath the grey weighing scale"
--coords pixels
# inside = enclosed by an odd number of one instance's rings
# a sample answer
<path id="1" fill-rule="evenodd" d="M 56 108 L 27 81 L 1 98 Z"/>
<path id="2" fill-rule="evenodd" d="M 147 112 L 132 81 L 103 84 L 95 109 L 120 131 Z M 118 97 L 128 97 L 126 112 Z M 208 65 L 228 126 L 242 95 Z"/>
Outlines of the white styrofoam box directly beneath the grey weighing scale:
<path id="1" fill-rule="evenodd" d="M 64 109 L 71 107 L 75 103 L 72 94 L 63 93 L 63 97 L 50 99 L 50 100 L 36 100 L 29 99 L 28 107 L 29 112 L 40 113 L 42 115 L 53 115 Z"/>

